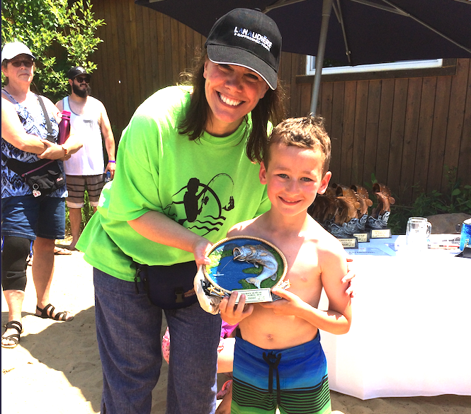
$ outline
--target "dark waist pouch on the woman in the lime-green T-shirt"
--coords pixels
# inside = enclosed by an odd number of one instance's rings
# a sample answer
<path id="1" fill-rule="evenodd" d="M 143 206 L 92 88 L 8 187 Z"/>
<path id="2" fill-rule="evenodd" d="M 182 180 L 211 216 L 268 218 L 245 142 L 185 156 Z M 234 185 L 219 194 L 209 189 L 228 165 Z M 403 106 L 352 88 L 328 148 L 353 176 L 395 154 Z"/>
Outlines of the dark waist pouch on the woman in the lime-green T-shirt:
<path id="1" fill-rule="evenodd" d="M 137 271 L 152 304 L 162 309 L 181 309 L 198 301 L 193 280 L 198 270 L 195 262 L 171 266 L 137 263 Z"/>

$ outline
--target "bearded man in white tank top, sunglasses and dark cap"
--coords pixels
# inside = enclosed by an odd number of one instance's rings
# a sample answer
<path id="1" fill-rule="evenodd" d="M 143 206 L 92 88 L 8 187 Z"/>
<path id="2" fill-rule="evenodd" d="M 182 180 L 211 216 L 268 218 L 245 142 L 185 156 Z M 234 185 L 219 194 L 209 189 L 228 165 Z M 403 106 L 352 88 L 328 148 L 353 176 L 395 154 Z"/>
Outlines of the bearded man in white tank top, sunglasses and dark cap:
<path id="1" fill-rule="evenodd" d="M 59 110 L 68 110 L 70 124 L 75 134 L 79 135 L 84 146 L 64 161 L 66 173 L 67 207 L 69 207 L 72 243 L 74 250 L 80 236 L 81 207 L 84 207 L 85 189 L 89 202 L 96 212 L 98 198 L 105 184 L 105 176 L 110 171 L 110 178 L 115 175 L 115 139 L 105 106 L 98 99 L 90 96 L 90 74 L 83 67 L 72 67 L 68 72 L 72 93 L 56 103 Z M 103 138 L 102 138 L 103 136 Z M 103 161 L 103 142 L 108 153 L 108 164 Z M 104 172 L 103 172 L 104 171 Z"/>

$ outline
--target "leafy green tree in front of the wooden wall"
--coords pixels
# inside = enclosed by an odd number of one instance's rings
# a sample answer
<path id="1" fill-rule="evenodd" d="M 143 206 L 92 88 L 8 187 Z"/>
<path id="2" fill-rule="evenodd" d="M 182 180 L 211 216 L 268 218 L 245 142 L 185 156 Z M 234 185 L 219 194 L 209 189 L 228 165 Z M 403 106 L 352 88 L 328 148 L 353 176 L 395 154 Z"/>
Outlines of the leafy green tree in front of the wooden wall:
<path id="1" fill-rule="evenodd" d="M 67 94 L 70 67 L 96 69 L 88 59 L 103 41 L 96 30 L 106 23 L 93 18 L 91 7 L 91 0 L 2 1 L 3 44 L 18 41 L 30 48 L 36 57 L 33 86 L 54 102 Z"/>

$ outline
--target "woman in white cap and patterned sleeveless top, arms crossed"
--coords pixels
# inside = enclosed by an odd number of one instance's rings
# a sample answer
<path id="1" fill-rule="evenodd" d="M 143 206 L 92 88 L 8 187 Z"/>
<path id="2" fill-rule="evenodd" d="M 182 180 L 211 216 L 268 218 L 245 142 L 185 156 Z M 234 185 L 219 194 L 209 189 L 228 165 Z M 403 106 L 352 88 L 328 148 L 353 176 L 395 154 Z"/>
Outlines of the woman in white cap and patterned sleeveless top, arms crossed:
<path id="1" fill-rule="evenodd" d="M 67 159 L 81 144 L 75 137 L 59 146 L 46 139 L 47 126 L 38 97 L 30 91 L 34 75 L 34 59 L 21 42 L 7 43 L 1 52 L 1 70 L 6 85 L 1 93 L 1 151 L 6 159 L 27 163 L 39 159 Z M 57 139 L 59 111 L 42 97 Z M 21 122 L 21 123 L 20 123 Z M 2 347 L 16 347 L 22 331 L 21 308 L 25 296 L 26 259 L 34 243 L 33 281 L 38 304 L 36 316 L 57 321 L 72 321 L 69 312 L 58 312 L 49 303 L 50 284 L 54 270 L 56 238 L 64 238 L 67 188 L 63 185 L 50 195 L 38 198 L 21 176 L 1 163 L 2 253 L 1 282 L 8 304 L 8 323 L 1 338 Z M 62 161 L 59 161 L 62 168 Z"/>

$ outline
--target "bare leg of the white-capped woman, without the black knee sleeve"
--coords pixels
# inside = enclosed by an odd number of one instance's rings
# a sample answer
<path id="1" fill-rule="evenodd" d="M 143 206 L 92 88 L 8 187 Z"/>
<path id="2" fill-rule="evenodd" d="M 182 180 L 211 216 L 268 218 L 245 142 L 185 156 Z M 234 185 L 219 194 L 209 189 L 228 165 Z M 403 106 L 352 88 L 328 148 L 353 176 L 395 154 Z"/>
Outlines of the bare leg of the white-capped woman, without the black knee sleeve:
<path id="1" fill-rule="evenodd" d="M 33 244 L 33 282 L 40 309 L 44 309 L 50 303 L 49 291 L 52 275 L 54 275 L 54 246 L 55 240 L 42 237 L 37 237 Z M 40 315 L 38 309 L 36 309 L 36 314 Z M 56 314 L 57 311 L 54 311 L 50 316 L 54 317 Z M 71 315 L 67 315 L 66 320 L 70 317 Z"/>

